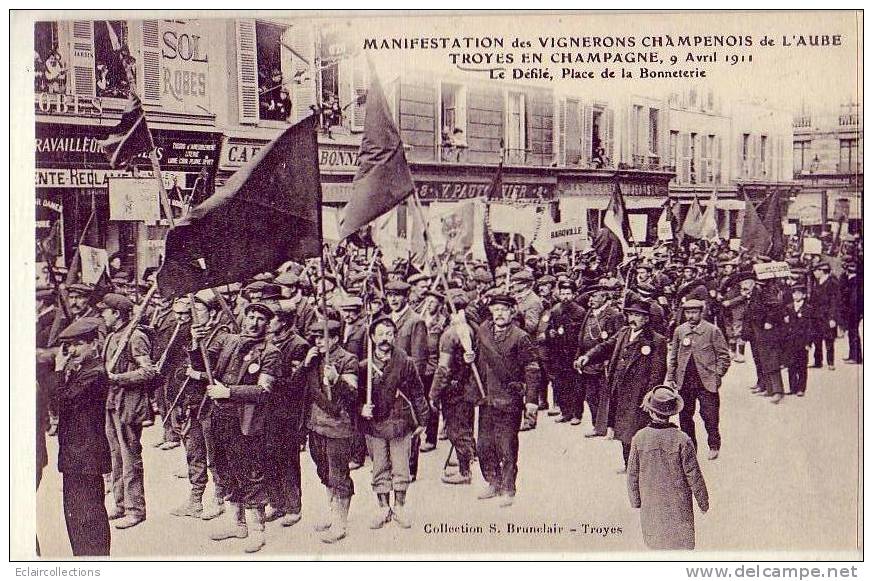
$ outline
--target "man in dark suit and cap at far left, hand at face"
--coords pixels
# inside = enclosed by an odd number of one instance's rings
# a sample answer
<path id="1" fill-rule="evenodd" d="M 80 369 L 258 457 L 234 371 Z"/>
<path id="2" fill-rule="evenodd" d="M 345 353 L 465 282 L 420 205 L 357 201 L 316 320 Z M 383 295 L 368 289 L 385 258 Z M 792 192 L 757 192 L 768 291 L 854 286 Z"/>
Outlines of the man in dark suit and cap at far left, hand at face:
<path id="1" fill-rule="evenodd" d="M 103 474 L 112 470 L 112 460 L 100 325 L 100 319 L 83 317 L 58 335 L 58 472 L 63 475 L 64 519 L 76 557 L 107 556 L 111 540 L 103 503 Z"/>

